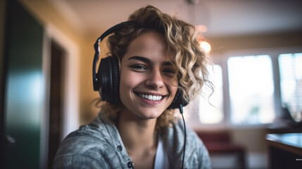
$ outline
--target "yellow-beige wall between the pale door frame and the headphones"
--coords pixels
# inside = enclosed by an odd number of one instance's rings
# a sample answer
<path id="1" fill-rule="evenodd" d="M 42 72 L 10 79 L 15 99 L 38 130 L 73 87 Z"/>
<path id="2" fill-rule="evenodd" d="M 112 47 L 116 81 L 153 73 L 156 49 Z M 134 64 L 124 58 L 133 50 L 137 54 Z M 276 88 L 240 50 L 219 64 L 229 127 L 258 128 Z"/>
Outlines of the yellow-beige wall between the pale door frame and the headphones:
<path id="1" fill-rule="evenodd" d="M 89 32 L 81 32 L 77 27 L 71 26 L 63 15 L 56 9 L 56 6 L 50 1 L 25 1 L 22 0 L 25 6 L 37 15 L 37 18 L 42 20 L 46 25 L 53 25 L 63 35 L 73 41 L 79 48 L 80 67 L 78 70 L 79 84 L 79 111 L 80 124 L 89 123 L 98 112 L 94 107 L 93 100 L 99 98 L 99 94 L 93 91 L 92 87 L 92 59 L 94 56 L 93 44 L 97 37 L 89 35 Z M 100 34 L 101 34 L 100 30 Z"/>

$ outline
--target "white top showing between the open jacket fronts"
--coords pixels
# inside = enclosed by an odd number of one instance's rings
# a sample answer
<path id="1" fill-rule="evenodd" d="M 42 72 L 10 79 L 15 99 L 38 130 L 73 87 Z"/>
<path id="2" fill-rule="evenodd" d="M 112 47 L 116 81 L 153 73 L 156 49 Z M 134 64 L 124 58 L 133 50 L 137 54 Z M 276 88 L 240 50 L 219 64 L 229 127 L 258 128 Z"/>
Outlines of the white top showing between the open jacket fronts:
<path id="1" fill-rule="evenodd" d="M 168 154 L 167 151 L 165 151 L 165 149 L 163 148 L 163 139 L 161 139 L 161 137 L 158 139 L 154 168 L 169 168 Z"/>

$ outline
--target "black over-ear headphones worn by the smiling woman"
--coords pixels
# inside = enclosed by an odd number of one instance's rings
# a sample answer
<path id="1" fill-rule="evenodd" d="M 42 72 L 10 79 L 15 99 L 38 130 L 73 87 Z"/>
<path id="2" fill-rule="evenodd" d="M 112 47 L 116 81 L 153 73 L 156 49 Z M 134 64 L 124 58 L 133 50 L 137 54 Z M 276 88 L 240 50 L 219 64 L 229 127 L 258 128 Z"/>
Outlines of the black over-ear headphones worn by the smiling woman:
<path id="1" fill-rule="evenodd" d="M 92 79 L 94 85 L 94 91 L 99 91 L 101 99 L 103 101 L 108 101 L 112 104 L 118 104 L 120 102 L 120 75 L 119 75 L 119 64 L 118 58 L 108 56 L 101 59 L 99 64 L 99 69 L 96 73 L 96 63 L 99 60 L 99 43 L 108 35 L 115 32 L 129 23 L 134 23 L 133 21 L 126 21 L 114 25 L 104 32 L 101 37 L 96 39 L 94 44 L 94 62 L 92 65 Z M 101 88 L 101 90 L 100 90 Z M 168 108 L 180 108 L 180 105 L 187 106 L 188 102 L 182 98 L 182 90 L 177 89 L 175 98 Z"/>

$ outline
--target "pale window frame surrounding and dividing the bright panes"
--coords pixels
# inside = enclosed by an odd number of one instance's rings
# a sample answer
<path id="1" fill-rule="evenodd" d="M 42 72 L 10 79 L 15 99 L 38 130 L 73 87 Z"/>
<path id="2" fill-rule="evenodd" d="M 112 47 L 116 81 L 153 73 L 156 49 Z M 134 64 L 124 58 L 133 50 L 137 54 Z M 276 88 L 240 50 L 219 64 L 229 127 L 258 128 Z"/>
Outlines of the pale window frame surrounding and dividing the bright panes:
<path id="1" fill-rule="evenodd" d="M 278 57 L 280 54 L 296 54 L 301 53 L 301 47 L 282 47 L 282 48 L 266 48 L 266 49 L 240 49 L 240 50 L 225 50 L 213 51 L 212 58 L 213 64 L 220 65 L 222 68 L 222 84 L 223 84 L 223 119 L 220 123 L 204 124 L 199 121 L 199 124 L 192 126 L 193 128 L 206 128 L 206 130 L 220 130 L 225 128 L 243 127 L 243 128 L 263 128 L 268 127 L 271 123 L 258 123 L 258 124 L 234 124 L 231 122 L 231 99 L 229 95 L 229 77 L 227 60 L 231 57 L 238 56 L 258 56 L 268 55 L 272 61 L 272 78 L 274 81 L 274 109 L 275 118 L 282 115 L 282 100 L 281 100 L 281 87 L 279 77 L 279 63 Z"/>

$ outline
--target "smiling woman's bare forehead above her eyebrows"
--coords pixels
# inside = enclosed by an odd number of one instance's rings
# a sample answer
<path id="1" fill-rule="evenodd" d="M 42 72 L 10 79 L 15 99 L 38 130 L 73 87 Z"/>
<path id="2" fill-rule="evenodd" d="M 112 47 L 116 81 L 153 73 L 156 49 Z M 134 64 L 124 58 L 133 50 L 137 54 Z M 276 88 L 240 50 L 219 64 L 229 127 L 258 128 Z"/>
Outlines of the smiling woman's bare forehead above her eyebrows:
<path id="1" fill-rule="evenodd" d="M 132 56 L 143 56 L 152 60 L 170 61 L 168 46 L 163 35 L 158 32 L 145 32 L 139 35 L 128 46 L 127 52 L 122 59 Z"/>

